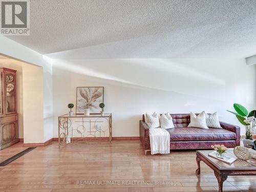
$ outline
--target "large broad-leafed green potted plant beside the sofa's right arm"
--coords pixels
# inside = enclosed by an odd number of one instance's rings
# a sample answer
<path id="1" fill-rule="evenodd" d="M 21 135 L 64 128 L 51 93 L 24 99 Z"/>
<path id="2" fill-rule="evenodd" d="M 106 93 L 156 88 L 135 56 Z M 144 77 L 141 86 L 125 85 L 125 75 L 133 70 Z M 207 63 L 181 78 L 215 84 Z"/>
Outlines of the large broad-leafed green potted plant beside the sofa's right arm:
<path id="1" fill-rule="evenodd" d="M 245 138 L 243 139 L 244 146 L 248 147 L 252 143 L 252 133 L 256 134 L 256 110 L 252 110 L 250 113 L 248 110 L 241 104 L 234 103 L 234 110 L 236 112 L 228 111 L 236 115 L 239 122 L 245 125 Z"/>

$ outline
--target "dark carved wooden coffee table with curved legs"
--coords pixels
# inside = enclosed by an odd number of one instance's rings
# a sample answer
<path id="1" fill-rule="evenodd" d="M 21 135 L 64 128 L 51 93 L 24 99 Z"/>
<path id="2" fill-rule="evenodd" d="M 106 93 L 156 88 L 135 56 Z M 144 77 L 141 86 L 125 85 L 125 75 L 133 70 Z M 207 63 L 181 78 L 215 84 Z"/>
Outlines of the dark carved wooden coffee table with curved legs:
<path id="1" fill-rule="evenodd" d="M 232 164 L 224 163 L 218 159 L 209 157 L 208 154 L 211 151 L 197 151 L 197 165 L 196 170 L 197 175 L 200 175 L 200 161 L 203 161 L 212 170 L 214 170 L 214 175 L 216 176 L 219 183 L 219 192 L 222 192 L 223 182 L 227 179 L 227 176 L 253 176 L 256 175 L 256 159 L 251 159 L 249 161 L 236 160 Z M 234 156 L 233 149 L 229 148 L 227 155 Z"/>

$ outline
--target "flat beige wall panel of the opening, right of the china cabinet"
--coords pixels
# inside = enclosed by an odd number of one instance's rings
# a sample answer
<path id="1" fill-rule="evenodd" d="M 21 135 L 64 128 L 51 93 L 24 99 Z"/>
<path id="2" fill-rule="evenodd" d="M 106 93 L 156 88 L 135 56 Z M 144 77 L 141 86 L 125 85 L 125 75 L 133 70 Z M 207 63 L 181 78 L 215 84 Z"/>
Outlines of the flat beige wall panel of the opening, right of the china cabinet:
<path id="1" fill-rule="evenodd" d="M 23 65 L 24 143 L 44 142 L 44 81 L 42 67 Z"/>

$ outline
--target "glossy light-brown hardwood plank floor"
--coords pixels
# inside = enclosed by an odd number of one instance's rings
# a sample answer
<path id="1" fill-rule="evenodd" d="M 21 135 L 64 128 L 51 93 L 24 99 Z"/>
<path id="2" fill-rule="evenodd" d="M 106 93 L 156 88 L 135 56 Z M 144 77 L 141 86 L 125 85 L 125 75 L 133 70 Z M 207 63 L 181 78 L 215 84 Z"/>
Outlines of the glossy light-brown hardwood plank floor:
<path id="1" fill-rule="evenodd" d="M 26 148 L 17 143 L 0 151 L 0 159 L 4 161 Z M 212 170 L 202 162 L 197 177 L 196 169 L 195 151 L 144 156 L 137 140 L 113 141 L 111 145 L 108 141 L 92 141 L 60 149 L 57 142 L 52 142 L 0 167 L 0 191 L 218 191 Z M 229 176 L 224 191 L 256 191 L 255 182 L 255 177 Z"/>

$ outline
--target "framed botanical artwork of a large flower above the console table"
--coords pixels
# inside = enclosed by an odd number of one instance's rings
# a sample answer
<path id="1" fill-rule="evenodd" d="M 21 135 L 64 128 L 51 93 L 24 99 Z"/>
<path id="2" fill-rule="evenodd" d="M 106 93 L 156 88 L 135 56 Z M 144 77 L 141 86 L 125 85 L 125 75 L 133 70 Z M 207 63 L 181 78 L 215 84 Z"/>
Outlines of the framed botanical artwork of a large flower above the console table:
<path id="1" fill-rule="evenodd" d="M 104 87 L 77 87 L 76 114 L 83 114 L 89 109 L 90 114 L 100 114 L 99 103 L 103 103 Z"/>

